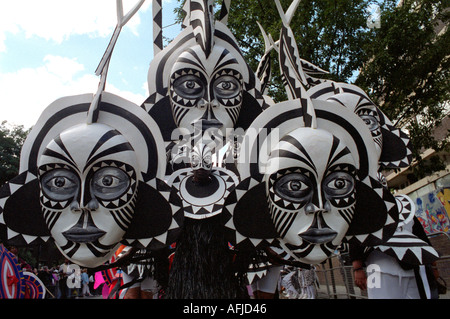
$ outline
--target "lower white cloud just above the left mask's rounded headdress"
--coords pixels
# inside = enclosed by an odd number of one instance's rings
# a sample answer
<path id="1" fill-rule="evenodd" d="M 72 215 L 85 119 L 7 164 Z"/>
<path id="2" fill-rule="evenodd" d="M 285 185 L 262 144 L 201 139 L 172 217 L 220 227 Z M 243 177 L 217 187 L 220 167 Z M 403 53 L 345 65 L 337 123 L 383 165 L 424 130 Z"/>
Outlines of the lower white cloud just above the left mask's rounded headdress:
<path id="1" fill-rule="evenodd" d="M 11 124 L 28 128 L 36 123 L 42 111 L 56 99 L 95 93 L 99 77 L 90 72 L 84 73 L 84 69 L 76 59 L 47 55 L 41 67 L 0 74 L 0 121 L 7 120 Z M 121 91 L 108 83 L 106 90 L 138 105 L 145 98 Z"/>

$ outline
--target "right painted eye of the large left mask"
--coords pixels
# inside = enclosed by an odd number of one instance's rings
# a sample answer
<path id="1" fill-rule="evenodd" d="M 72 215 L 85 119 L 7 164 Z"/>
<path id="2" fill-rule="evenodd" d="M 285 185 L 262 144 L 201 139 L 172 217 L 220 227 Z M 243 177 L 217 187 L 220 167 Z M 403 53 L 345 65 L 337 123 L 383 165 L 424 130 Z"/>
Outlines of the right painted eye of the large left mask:
<path id="1" fill-rule="evenodd" d="M 92 193 L 102 200 L 119 198 L 128 190 L 129 185 L 128 175 L 116 167 L 105 167 L 98 170 L 91 180 Z"/>

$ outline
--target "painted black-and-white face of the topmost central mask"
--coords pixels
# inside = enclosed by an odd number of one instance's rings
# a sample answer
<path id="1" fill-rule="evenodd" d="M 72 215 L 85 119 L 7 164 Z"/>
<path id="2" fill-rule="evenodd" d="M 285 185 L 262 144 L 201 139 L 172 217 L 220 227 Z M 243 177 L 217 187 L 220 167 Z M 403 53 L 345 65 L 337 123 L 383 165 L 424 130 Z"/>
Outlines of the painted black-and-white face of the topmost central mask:
<path id="1" fill-rule="evenodd" d="M 219 129 L 225 136 L 239 117 L 243 99 L 242 66 L 214 46 L 208 57 L 200 46 L 183 52 L 172 68 L 169 97 L 178 127 Z"/>

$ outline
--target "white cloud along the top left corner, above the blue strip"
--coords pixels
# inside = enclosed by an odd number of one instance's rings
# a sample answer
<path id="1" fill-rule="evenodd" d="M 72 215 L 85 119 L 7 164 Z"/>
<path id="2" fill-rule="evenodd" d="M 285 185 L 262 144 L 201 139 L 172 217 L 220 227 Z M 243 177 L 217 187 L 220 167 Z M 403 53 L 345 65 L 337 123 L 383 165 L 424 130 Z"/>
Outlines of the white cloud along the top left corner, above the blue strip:
<path id="1" fill-rule="evenodd" d="M 138 1 L 125 0 L 124 12 Z M 150 7 L 144 2 L 140 12 Z M 137 34 L 139 14 L 125 28 Z M 7 33 L 25 32 L 27 37 L 38 36 L 61 43 L 71 35 L 92 37 L 111 36 L 117 23 L 116 2 L 112 0 L 22 0 L 2 1 L 0 4 L 0 52 L 5 51 Z"/>

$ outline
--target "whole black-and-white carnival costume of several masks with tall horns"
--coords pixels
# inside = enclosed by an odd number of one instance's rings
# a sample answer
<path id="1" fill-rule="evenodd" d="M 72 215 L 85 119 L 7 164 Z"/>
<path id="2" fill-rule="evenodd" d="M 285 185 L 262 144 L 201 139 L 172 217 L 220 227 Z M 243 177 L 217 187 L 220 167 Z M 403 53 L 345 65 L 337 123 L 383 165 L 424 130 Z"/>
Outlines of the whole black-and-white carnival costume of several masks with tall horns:
<path id="1" fill-rule="evenodd" d="M 142 3 L 124 15 L 117 1 L 97 92 L 58 99 L 27 137 L 19 175 L 0 190 L 2 239 L 54 240 L 89 268 L 115 267 L 107 263 L 121 245 L 145 251 L 145 266 L 122 260 L 129 274 L 171 256 L 167 281 L 152 277 L 166 298 L 244 298 L 269 248 L 278 252 L 263 267 L 308 268 L 339 247 L 382 249 L 395 237 L 399 210 L 378 171 L 410 164 L 409 138 L 361 89 L 316 78 L 326 71 L 300 58 L 289 26 L 298 0 L 286 12 L 275 0 L 280 39 L 260 26 L 256 72 L 227 27 L 230 1 L 217 21 L 214 1 L 186 1 L 183 30 L 166 47 L 153 1 L 155 55 L 138 106 L 104 89 L 121 28 Z M 271 50 L 281 103 L 265 95 Z"/>

